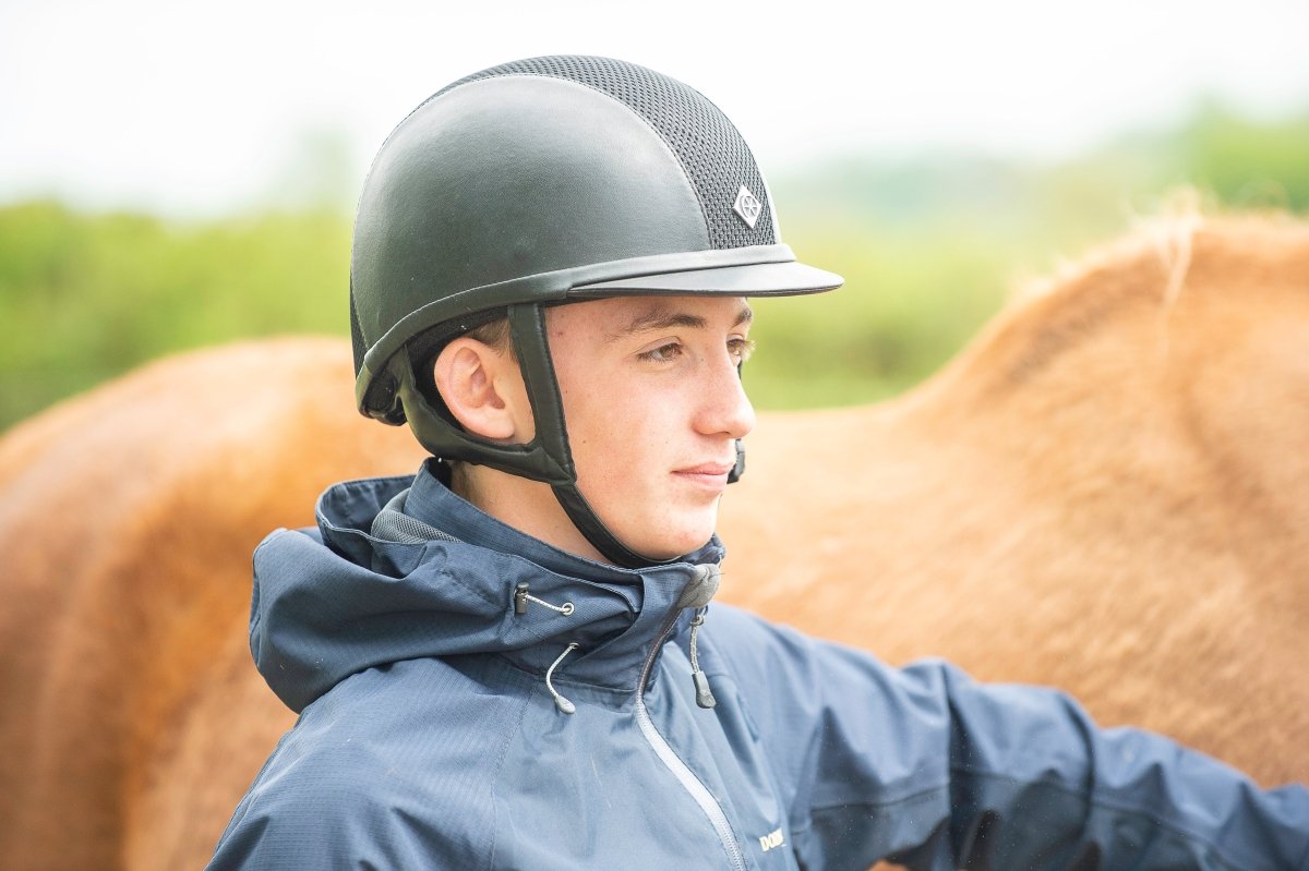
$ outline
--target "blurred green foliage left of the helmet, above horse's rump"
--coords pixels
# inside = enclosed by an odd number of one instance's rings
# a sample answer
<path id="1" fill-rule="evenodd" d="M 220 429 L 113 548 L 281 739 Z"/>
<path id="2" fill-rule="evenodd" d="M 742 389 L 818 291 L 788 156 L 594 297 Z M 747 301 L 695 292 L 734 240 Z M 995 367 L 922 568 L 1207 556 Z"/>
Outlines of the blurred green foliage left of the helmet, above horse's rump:
<path id="1" fill-rule="evenodd" d="M 0 426 L 171 350 L 342 332 L 350 222 L 0 209 Z"/>

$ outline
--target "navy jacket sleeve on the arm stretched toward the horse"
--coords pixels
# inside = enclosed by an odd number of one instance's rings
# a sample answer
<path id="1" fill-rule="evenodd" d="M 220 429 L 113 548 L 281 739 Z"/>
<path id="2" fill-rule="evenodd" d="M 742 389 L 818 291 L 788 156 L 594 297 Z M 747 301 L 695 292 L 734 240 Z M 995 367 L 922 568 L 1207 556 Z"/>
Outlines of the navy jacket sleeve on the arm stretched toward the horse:
<path id="1" fill-rule="evenodd" d="M 1056 691 L 939 660 L 890 668 L 725 611 L 723 679 L 774 760 L 805 867 L 1309 868 L 1302 786 L 1262 791 L 1162 736 L 1102 730 Z"/>

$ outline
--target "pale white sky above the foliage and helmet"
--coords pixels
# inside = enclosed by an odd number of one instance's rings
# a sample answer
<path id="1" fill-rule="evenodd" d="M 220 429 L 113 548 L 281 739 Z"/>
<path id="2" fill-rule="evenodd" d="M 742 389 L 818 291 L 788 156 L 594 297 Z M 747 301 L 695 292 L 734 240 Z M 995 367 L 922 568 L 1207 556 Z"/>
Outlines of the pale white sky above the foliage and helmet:
<path id="1" fill-rule="evenodd" d="M 1304 111 L 1306 43 L 1306 0 L 0 0 L 0 203 L 234 212 L 325 131 L 361 179 L 428 94 L 543 54 L 681 78 L 770 174 L 833 152 L 1058 158 L 1202 94 Z"/>

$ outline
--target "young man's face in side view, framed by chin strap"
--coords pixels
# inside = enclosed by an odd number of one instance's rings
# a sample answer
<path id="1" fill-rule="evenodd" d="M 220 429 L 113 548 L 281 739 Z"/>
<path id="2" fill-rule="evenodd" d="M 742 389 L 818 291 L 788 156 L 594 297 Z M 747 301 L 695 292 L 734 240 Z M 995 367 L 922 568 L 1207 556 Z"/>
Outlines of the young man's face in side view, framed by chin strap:
<path id="1" fill-rule="evenodd" d="M 703 545 L 754 428 L 737 365 L 738 297 L 619 297 L 550 309 L 577 487 L 628 548 L 664 560 Z"/>

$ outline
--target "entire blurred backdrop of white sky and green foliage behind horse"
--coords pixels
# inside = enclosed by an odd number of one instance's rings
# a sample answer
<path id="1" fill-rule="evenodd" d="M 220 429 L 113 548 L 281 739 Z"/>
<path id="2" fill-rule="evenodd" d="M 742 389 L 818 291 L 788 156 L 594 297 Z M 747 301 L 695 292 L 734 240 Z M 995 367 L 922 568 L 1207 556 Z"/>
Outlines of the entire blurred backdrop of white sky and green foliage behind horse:
<path id="1" fill-rule="evenodd" d="M 0 0 L 0 429 L 171 350 L 347 335 L 390 128 L 563 52 L 713 99 L 846 276 L 757 306 L 757 404 L 885 398 L 1178 186 L 1309 209 L 1305 34 L 1304 0 Z"/>

